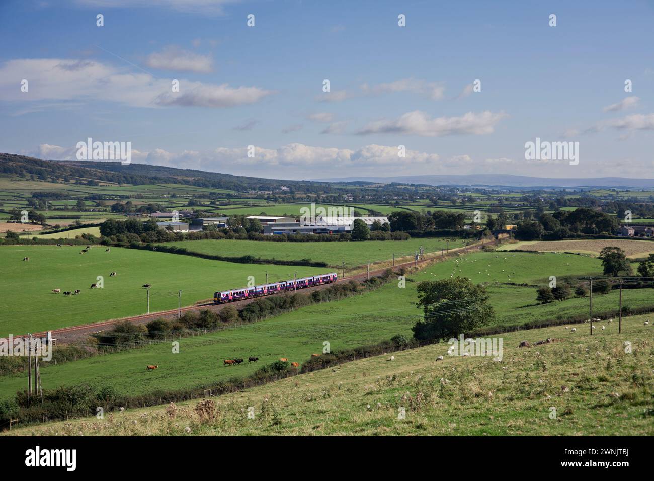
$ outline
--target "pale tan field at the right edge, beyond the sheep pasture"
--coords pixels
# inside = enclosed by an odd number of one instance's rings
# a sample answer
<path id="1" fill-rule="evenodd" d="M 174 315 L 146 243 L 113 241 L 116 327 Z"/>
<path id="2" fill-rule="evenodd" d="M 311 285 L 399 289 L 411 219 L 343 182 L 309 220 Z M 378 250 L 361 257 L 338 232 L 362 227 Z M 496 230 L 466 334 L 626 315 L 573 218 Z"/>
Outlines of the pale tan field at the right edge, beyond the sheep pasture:
<path id="1" fill-rule="evenodd" d="M 563 240 L 563 241 L 521 241 L 505 244 L 499 247 L 498 251 L 511 251 L 521 249 L 523 251 L 542 252 L 578 252 L 584 254 L 598 255 L 604 247 L 619 247 L 627 254 L 627 257 L 647 257 L 654 253 L 654 241 L 645 240 Z"/>

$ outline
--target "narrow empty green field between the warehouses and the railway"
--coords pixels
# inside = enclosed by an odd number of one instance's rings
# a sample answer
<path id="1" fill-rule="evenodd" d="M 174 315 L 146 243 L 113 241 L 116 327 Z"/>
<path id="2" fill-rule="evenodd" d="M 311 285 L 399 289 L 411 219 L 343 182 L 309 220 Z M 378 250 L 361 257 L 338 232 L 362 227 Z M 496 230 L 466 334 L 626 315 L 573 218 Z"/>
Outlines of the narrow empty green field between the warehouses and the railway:
<path id="1" fill-rule="evenodd" d="M 247 241 L 247 240 L 196 240 L 167 242 L 165 245 L 184 247 L 189 251 L 240 257 L 252 255 L 254 257 L 299 260 L 311 259 L 327 262 L 330 266 L 340 268 L 345 260 L 346 268 L 361 266 L 366 262 L 377 262 L 396 258 L 413 256 L 415 251 L 424 247 L 424 252 L 436 252 L 450 248 L 461 247 L 464 241 L 460 239 L 409 239 L 405 241 L 332 241 L 332 242 L 274 242 L 274 241 Z"/>

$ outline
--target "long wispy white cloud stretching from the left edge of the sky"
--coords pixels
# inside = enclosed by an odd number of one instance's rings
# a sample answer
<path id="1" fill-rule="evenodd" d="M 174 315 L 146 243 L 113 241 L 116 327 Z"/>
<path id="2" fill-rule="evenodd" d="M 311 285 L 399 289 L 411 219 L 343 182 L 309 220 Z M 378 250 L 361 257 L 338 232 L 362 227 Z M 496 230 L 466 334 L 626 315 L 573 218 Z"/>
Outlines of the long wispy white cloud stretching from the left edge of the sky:
<path id="1" fill-rule="evenodd" d="M 20 81 L 29 91 L 20 91 Z M 254 103 L 273 94 L 256 86 L 231 87 L 180 79 L 180 92 L 171 91 L 170 79 L 131 73 L 90 60 L 22 59 L 0 65 L 0 100 L 112 101 L 131 107 L 199 105 L 233 107 Z"/>

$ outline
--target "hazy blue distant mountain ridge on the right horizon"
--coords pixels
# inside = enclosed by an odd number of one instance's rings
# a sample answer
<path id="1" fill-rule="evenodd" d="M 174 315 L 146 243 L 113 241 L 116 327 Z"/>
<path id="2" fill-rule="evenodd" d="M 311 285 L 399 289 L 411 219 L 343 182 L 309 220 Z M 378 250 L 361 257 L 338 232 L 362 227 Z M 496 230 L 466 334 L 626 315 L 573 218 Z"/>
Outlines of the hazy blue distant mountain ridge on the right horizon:
<path id="1" fill-rule="evenodd" d="M 652 188 L 654 179 L 628 179 L 625 177 L 596 177 L 594 179 L 553 179 L 549 177 L 528 177 L 510 174 L 469 174 L 469 175 L 404 175 L 397 177 L 345 177 L 314 179 L 317 182 L 374 182 L 408 183 L 423 185 L 461 185 L 479 187 L 608 187 L 608 188 Z"/>

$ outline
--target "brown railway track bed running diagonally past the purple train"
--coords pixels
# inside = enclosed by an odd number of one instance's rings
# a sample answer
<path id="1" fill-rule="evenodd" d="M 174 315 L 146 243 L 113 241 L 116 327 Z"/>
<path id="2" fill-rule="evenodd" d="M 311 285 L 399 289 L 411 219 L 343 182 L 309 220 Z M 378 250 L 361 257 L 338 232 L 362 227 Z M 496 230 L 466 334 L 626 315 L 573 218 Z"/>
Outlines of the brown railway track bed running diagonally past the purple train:
<path id="1" fill-rule="evenodd" d="M 449 253 L 446 253 L 445 255 L 440 255 L 440 256 L 434 256 L 434 257 L 428 257 L 425 258 L 424 260 L 419 260 L 417 263 L 415 261 L 411 262 L 404 262 L 402 264 L 396 264 L 396 266 L 393 268 L 394 270 L 400 269 L 400 268 L 408 268 L 408 267 L 413 267 L 413 266 L 424 266 L 427 264 L 430 264 L 431 262 L 440 262 L 441 260 L 445 260 L 449 257 L 453 257 L 455 255 L 458 255 L 459 253 L 462 252 L 470 252 L 470 251 L 477 251 L 481 249 L 481 247 L 485 245 L 492 245 L 495 244 L 496 240 L 489 240 L 489 241 L 483 241 L 479 242 L 473 245 L 469 245 L 467 247 L 456 247 L 455 249 L 450 249 Z M 370 271 L 370 276 L 373 277 L 379 277 L 381 276 L 388 268 L 381 268 L 377 270 L 371 270 Z M 364 281 L 366 279 L 367 274 L 355 274 L 353 276 L 348 276 L 348 277 L 343 277 L 340 278 L 336 281 L 336 283 L 343 283 L 343 282 L 349 282 L 351 280 L 357 280 L 357 281 Z M 319 289 L 325 289 L 326 287 L 329 287 L 332 285 L 332 283 L 328 284 L 323 284 L 323 285 L 318 285 L 314 287 L 306 287 L 304 289 L 299 289 L 298 291 L 303 292 L 303 293 L 308 293 L 312 291 L 317 291 Z M 273 294 L 275 295 L 275 294 Z M 284 293 L 281 295 L 288 295 L 288 293 Z M 230 304 L 213 304 L 213 302 L 204 302 L 203 304 L 196 304 L 195 306 L 187 306 L 185 308 L 181 309 L 181 312 L 189 312 L 189 311 L 199 311 L 199 310 L 211 310 L 213 312 L 220 312 L 225 306 L 234 306 L 235 308 L 239 309 L 242 306 L 245 306 L 246 304 L 249 304 L 250 302 L 253 302 L 254 300 L 258 299 L 260 297 L 255 297 L 252 299 L 246 299 L 246 300 L 240 300 L 237 302 L 230 302 Z M 111 319 L 109 321 L 100 321 L 97 323 L 92 323 L 92 324 L 82 324 L 82 325 L 77 325 L 77 326 L 71 326 L 71 327 L 63 327 L 61 329 L 56 329 L 52 331 L 52 338 L 57 340 L 58 344 L 71 344 L 73 342 L 78 342 L 80 340 L 85 340 L 90 336 L 91 334 L 94 334 L 96 332 L 101 332 L 103 330 L 110 329 L 114 324 L 118 322 L 123 322 L 123 321 L 129 321 L 135 325 L 140 325 L 140 324 L 146 324 L 154 319 L 177 319 L 177 314 L 179 310 L 178 309 L 173 309 L 169 311 L 162 311 L 162 312 L 157 312 L 157 313 L 151 313 L 151 314 L 143 314 L 143 315 L 136 315 L 132 317 L 124 317 L 122 319 Z M 39 332 L 36 334 L 32 334 L 35 337 L 44 337 L 46 336 L 46 332 Z M 23 336 L 14 336 L 14 337 L 23 337 Z"/>

